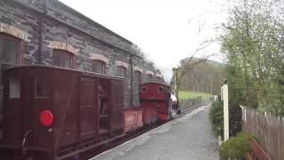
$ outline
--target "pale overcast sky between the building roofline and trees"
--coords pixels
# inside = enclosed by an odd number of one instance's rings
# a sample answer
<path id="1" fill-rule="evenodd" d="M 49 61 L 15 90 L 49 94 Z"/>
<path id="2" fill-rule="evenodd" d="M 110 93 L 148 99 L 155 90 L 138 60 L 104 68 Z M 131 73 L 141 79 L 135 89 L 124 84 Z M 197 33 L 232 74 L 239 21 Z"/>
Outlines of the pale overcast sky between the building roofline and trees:
<path id="1" fill-rule="evenodd" d="M 202 41 L 217 37 L 215 28 L 226 16 L 225 0 L 60 1 L 137 44 L 168 82 L 179 60 L 191 56 Z M 197 56 L 219 49 L 218 43 L 210 44 Z"/>

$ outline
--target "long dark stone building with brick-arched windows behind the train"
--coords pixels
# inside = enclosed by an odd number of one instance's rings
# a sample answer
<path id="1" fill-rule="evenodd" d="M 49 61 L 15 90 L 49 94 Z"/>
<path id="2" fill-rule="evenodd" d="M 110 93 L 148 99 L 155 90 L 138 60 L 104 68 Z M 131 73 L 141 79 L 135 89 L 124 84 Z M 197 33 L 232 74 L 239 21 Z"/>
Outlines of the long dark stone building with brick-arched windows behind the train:
<path id="1" fill-rule="evenodd" d="M 124 106 L 138 107 L 138 84 L 163 80 L 135 46 L 58 0 L 0 1 L 1 70 L 38 64 L 124 76 Z"/>

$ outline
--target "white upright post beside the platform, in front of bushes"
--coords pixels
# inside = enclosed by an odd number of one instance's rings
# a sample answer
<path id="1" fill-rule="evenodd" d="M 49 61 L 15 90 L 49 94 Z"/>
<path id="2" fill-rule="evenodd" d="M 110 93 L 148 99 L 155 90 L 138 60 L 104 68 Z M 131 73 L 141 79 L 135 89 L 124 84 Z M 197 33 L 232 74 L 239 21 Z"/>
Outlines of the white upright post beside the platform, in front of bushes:
<path id="1" fill-rule="evenodd" d="M 229 139 L 229 96 L 227 80 L 222 82 L 221 98 L 224 103 L 224 141 Z"/>

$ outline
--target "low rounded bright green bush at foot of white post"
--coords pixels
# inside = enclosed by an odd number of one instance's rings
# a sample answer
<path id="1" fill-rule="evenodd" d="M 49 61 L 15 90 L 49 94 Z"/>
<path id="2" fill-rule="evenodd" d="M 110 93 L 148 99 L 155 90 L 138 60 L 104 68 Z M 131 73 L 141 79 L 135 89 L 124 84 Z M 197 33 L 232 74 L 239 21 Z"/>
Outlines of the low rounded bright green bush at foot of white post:
<path id="1" fill-rule="evenodd" d="M 254 136 L 248 133 L 238 133 L 237 136 L 223 142 L 219 148 L 221 160 L 241 160 L 251 151 L 249 140 Z"/>

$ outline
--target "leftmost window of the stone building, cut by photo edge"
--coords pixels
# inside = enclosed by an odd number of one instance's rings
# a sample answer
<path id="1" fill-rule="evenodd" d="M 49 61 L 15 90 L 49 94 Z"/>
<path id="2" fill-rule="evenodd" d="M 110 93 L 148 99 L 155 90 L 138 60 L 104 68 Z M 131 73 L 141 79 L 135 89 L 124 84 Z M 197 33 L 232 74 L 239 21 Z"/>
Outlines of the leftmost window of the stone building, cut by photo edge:
<path id="1" fill-rule="evenodd" d="M 13 36 L 0 35 L 0 60 L 3 63 L 20 63 L 20 39 Z"/>

